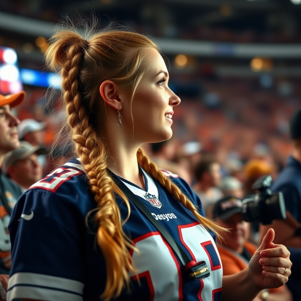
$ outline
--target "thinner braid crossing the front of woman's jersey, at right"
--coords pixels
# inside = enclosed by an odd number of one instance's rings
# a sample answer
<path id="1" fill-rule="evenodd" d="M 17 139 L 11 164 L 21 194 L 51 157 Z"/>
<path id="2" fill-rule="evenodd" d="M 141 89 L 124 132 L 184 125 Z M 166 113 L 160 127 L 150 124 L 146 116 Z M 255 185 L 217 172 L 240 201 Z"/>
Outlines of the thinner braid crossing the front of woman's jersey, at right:
<path id="1" fill-rule="evenodd" d="M 185 194 L 181 192 L 177 185 L 175 185 L 170 179 L 161 172 L 155 163 L 151 162 L 147 155 L 144 153 L 143 149 L 140 147 L 137 152 L 137 159 L 139 165 L 145 169 L 149 174 L 151 174 L 163 187 L 165 187 L 169 193 L 171 193 L 175 199 L 182 203 L 182 205 L 190 210 L 195 218 L 207 229 L 212 230 L 218 237 L 220 233 L 227 231 L 225 228 L 212 222 L 210 219 L 200 215 L 197 207 L 189 200 Z"/>

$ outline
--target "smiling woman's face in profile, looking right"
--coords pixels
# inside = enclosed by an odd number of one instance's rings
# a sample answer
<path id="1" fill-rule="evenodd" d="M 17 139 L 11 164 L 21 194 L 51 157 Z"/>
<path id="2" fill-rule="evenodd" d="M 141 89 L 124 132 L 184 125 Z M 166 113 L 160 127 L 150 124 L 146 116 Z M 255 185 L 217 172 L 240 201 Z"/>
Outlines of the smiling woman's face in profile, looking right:
<path id="1" fill-rule="evenodd" d="M 147 54 L 150 68 L 141 79 L 132 105 L 134 139 L 142 143 L 171 138 L 173 107 L 180 103 L 180 98 L 167 85 L 169 75 L 162 56 L 153 48 Z M 130 123 L 132 116 L 127 111 Z"/>

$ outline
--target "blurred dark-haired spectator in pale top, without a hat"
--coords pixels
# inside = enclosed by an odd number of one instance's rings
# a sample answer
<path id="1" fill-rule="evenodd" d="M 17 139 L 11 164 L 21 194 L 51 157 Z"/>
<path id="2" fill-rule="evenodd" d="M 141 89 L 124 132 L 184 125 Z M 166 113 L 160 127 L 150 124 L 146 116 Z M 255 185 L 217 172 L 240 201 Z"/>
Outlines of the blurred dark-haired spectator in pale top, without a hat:
<path id="1" fill-rule="evenodd" d="M 195 168 L 195 178 L 194 191 L 202 201 L 206 216 L 210 216 L 213 204 L 223 196 L 218 188 L 222 178 L 219 163 L 210 158 L 200 161 Z"/>

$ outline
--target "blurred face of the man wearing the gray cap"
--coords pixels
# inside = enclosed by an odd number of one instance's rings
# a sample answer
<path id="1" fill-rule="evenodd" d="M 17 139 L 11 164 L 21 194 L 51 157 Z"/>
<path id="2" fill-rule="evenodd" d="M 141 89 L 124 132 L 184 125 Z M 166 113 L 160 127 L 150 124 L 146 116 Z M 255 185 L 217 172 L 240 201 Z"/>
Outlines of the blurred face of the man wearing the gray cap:
<path id="1" fill-rule="evenodd" d="M 37 161 L 37 154 L 18 160 L 14 165 L 8 166 L 9 176 L 26 189 L 42 179 L 42 166 Z"/>

